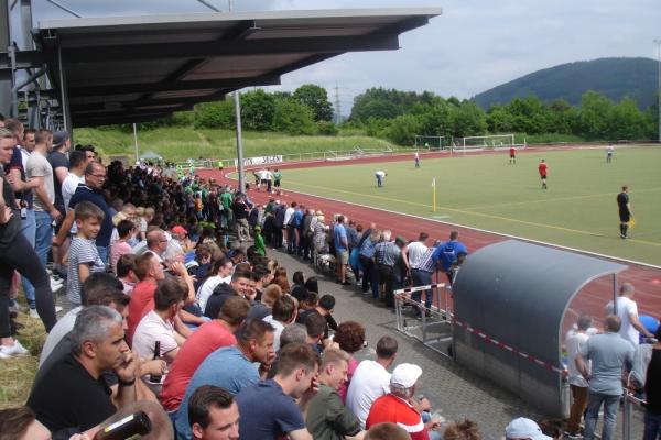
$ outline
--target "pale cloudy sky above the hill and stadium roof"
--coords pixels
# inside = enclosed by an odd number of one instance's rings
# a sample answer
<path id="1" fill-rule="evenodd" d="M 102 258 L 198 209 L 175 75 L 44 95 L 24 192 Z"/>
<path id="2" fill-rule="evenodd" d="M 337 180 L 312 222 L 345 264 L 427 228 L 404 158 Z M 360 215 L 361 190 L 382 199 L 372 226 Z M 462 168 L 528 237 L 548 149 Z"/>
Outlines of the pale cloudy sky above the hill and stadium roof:
<path id="1" fill-rule="evenodd" d="M 205 0 L 227 11 L 228 0 Z M 83 16 L 206 12 L 196 0 L 57 0 Z M 370 87 L 470 98 L 541 68 L 600 57 L 657 58 L 659 0 L 234 0 L 235 11 L 436 7 L 443 13 L 404 33 L 400 50 L 351 53 L 282 76 L 274 90 L 316 84 L 342 113 Z M 71 18 L 33 0 L 35 20 Z"/>

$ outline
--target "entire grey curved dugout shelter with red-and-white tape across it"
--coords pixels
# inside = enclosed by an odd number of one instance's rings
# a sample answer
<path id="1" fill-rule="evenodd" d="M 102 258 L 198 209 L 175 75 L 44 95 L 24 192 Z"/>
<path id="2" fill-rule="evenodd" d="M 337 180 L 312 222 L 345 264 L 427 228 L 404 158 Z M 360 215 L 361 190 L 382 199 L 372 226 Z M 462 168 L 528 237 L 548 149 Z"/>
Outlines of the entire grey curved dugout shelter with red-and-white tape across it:
<path id="1" fill-rule="evenodd" d="M 626 268 L 517 240 L 481 248 L 466 260 L 453 286 L 456 362 L 545 414 L 566 417 L 563 317 L 579 290 L 597 278 L 610 279 L 615 298 L 617 274 Z"/>

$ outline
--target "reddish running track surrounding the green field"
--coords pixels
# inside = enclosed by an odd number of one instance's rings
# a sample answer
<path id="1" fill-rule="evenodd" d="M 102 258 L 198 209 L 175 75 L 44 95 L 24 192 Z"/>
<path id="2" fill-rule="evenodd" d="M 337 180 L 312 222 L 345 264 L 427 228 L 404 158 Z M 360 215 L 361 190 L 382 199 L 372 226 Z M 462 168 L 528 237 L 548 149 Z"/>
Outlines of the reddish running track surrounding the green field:
<path id="1" fill-rule="evenodd" d="M 572 146 L 563 146 L 562 150 L 575 148 Z M 557 151 L 559 147 L 549 148 L 534 148 L 531 152 L 540 151 Z M 527 151 L 520 151 L 519 154 L 525 154 Z M 459 153 L 462 154 L 462 153 Z M 489 152 L 472 152 L 468 154 L 509 154 L 507 151 L 489 151 Z M 447 152 L 441 153 L 426 153 L 421 154 L 421 158 L 436 158 L 436 157 L 449 157 Z M 400 162 L 400 161 L 412 161 L 410 155 L 392 155 L 392 156 L 377 156 L 377 157 L 361 157 L 348 161 L 318 161 L 318 162 L 300 162 L 300 163 L 286 163 L 278 164 L 280 169 L 286 168 L 303 168 L 303 167 L 317 167 L 317 166 L 337 166 L 345 164 L 356 163 L 383 163 L 383 162 Z M 224 173 L 216 169 L 201 169 L 197 172 L 201 177 L 214 178 L 218 183 L 236 185 L 236 180 L 229 179 Z M 250 179 L 248 179 L 250 182 Z M 286 184 L 286 176 L 283 179 Z M 459 231 L 459 239 L 464 242 L 470 252 L 475 252 L 481 246 L 487 244 L 497 243 L 500 241 L 508 240 L 508 237 L 500 235 L 497 233 L 489 233 L 483 231 L 476 231 L 470 228 L 462 228 L 451 224 L 445 224 L 441 221 L 427 220 L 423 218 L 416 218 L 407 216 L 403 213 L 397 213 L 386 211 L 381 209 L 370 208 L 367 206 L 358 206 L 355 204 L 348 204 L 343 201 L 329 200 L 323 197 L 307 196 L 300 194 L 286 188 L 283 189 L 281 196 L 270 195 L 266 191 L 258 191 L 250 189 L 250 198 L 259 204 L 266 204 L 269 197 L 274 197 L 288 202 L 296 201 L 303 204 L 306 207 L 314 209 L 321 209 L 326 213 L 326 218 L 329 218 L 332 213 L 342 212 L 348 218 L 355 220 L 364 226 L 370 222 L 376 222 L 380 228 L 388 228 L 392 230 L 394 235 L 403 235 L 407 239 L 414 239 L 421 231 L 425 231 L 433 239 L 446 240 L 449 235 L 451 230 Z M 661 316 L 661 270 L 648 267 L 644 265 L 631 264 L 627 262 L 615 262 L 622 263 L 629 266 L 626 271 L 618 275 L 618 283 L 629 282 L 636 286 L 636 301 L 638 302 L 639 314 L 651 315 L 657 318 Z M 595 316 L 598 320 L 604 316 L 604 306 L 608 300 L 613 298 L 611 278 L 600 278 L 589 283 L 572 301 L 570 305 L 570 312 L 576 316 L 578 312 L 588 312 Z M 573 320 L 571 317 L 567 319 Z M 570 322 L 565 322 L 563 326 L 565 329 Z"/>

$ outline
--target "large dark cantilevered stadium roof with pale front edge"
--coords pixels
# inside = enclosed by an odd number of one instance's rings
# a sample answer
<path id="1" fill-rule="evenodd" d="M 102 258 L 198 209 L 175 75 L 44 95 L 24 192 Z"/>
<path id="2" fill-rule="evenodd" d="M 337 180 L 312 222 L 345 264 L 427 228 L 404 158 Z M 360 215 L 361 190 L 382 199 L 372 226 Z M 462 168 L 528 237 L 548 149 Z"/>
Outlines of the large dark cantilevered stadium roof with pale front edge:
<path id="1" fill-rule="evenodd" d="M 399 48 L 440 8 L 196 13 L 40 21 L 74 127 L 149 121 L 357 51 Z M 57 59 L 64 67 L 61 75 Z M 56 94 L 59 98 L 59 92 Z M 66 98 L 65 98 L 66 100 Z"/>

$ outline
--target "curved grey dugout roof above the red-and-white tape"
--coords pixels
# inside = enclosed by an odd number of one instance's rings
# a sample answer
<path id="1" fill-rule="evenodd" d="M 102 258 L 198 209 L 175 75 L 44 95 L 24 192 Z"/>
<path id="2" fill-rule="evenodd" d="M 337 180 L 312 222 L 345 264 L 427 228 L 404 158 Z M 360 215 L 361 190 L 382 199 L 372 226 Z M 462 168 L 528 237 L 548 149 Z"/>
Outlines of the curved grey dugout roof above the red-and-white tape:
<path id="1" fill-rule="evenodd" d="M 562 319 L 572 298 L 590 280 L 625 268 L 516 240 L 491 244 L 462 266 L 453 286 L 455 317 L 500 342 L 557 364 Z"/>

